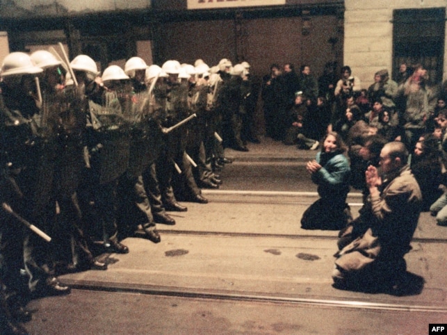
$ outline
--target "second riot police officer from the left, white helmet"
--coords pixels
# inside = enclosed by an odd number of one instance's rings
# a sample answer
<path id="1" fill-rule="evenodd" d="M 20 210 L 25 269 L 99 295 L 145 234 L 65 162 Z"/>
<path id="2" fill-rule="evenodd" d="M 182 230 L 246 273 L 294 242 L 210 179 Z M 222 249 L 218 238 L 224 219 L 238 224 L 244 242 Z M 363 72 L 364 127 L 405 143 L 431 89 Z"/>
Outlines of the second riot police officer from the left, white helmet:
<path id="1" fill-rule="evenodd" d="M 86 129 L 85 96 L 78 86 L 65 87 L 65 67 L 49 51 L 39 50 L 31 54 L 35 65 L 42 68 L 42 117 L 53 124 L 56 145 L 53 190 L 49 216 L 56 224 L 54 256 L 71 254 L 65 270 L 106 270 L 106 263 L 95 260 L 88 248 L 81 229 L 76 188 L 83 167 L 83 142 Z M 64 67 L 65 66 L 65 67 Z M 56 203 L 59 215 L 56 214 Z M 74 245 L 72 245 L 74 243 Z"/>

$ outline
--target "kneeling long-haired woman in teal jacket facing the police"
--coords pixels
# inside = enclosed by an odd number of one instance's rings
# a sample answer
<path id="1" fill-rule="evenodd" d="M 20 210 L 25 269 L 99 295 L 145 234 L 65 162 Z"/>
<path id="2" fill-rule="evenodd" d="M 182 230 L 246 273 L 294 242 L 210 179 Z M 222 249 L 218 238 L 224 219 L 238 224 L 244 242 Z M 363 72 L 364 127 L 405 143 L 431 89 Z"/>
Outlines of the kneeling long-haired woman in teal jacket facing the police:
<path id="1" fill-rule="evenodd" d="M 323 138 L 321 152 L 306 165 L 311 179 L 318 185 L 318 199 L 304 212 L 303 229 L 339 230 L 350 218 L 346 197 L 349 192 L 350 166 L 344 155 L 346 145 L 336 132 Z"/>

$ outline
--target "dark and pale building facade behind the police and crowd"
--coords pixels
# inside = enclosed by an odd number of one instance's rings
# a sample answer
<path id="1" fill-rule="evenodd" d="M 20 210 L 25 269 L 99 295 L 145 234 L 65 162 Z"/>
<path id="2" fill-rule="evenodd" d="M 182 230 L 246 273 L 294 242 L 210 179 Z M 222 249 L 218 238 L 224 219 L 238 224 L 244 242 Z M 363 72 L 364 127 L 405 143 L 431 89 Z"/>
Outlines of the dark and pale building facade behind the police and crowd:
<path id="1" fill-rule="evenodd" d="M 99 68 L 131 56 L 161 65 L 177 59 L 210 66 L 243 60 L 261 76 L 271 63 L 350 65 L 364 86 L 377 70 L 423 63 L 432 81 L 446 73 L 446 0 L 0 0 L 8 51 L 63 42 L 70 58 Z M 0 58 L 6 56 L 2 48 Z"/>

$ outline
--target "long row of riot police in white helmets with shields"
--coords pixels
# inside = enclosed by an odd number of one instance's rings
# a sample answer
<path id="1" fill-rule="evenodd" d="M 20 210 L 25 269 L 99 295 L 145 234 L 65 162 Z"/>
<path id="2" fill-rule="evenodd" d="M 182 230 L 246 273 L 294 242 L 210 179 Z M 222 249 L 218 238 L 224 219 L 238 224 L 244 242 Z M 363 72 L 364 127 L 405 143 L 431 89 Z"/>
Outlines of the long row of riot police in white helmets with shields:
<path id="1" fill-rule="evenodd" d="M 10 53 L 0 72 L 2 334 L 26 334 L 30 298 L 70 293 L 58 275 L 107 270 L 97 256 L 127 254 L 128 236 L 159 243 L 167 211 L 219 188 L 225 147 L 259 142 L 247 62 L 132 57 L 100 73 L 50 51 Z"/>

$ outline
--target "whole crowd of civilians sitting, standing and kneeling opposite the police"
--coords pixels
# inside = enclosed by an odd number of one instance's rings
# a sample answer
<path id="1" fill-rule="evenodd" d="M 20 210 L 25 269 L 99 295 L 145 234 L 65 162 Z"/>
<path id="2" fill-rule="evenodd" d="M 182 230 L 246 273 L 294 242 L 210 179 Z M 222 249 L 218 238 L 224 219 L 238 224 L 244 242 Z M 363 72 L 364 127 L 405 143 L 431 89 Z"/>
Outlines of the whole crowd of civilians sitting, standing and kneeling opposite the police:
<path id="1" fill-rule="evenodd" d="M 400 294 L 421 211 L 447 226 L 447 85 L 430 83 L 420 64 L 403 64 L 396 81 L 380 70 L 368 88 L 350 67 L 339 79 L 331 67 L 316 80 L 307 65 L 300 74 L 271 66 L 262 91 L 267 135 L 320 147 L 306 165 L 320 198 L 301 227 L 339 230 L 334 286 Z M 357 218 L 350 188 L 363 194 Z"/>

